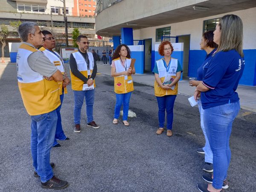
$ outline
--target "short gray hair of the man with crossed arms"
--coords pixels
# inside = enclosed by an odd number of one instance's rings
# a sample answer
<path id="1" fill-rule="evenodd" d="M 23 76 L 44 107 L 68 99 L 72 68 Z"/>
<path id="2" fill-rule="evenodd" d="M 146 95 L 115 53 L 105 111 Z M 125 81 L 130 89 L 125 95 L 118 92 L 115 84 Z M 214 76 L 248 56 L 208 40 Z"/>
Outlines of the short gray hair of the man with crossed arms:
<path id="1" fill-rule="evenodd" d="M 26 42 L 28 40 L 28 35 L 35 34 L 35 26 L 38 26 L 38 24 L 34 22 L 24 22 L 21 23 L 19 28 L 18 28 L 18 33 L 20 36 L 20 39 L 23 42 Z"/>

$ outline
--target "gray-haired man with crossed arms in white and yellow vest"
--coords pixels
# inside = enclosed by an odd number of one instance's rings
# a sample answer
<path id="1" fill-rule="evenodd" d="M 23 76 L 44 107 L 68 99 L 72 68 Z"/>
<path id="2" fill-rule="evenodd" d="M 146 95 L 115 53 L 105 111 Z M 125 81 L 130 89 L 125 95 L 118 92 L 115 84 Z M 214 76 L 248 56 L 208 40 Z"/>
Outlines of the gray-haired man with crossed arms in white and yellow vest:
<path id="1" fill-rule="evenodd" d="M 17 53 L 17 79 L 27 113 L 31 116 L 31 153 L 34 176 L 41 178 L 41 187 L 64 189 L 67 181 L 53 174 L 50 150 L 55 138 L 57 113 L 61 104 L 57 81 L 63 77 L 38 47 L 44 35 L 36 23 L 25 22 L 18 28 L 22 44 Z"/>

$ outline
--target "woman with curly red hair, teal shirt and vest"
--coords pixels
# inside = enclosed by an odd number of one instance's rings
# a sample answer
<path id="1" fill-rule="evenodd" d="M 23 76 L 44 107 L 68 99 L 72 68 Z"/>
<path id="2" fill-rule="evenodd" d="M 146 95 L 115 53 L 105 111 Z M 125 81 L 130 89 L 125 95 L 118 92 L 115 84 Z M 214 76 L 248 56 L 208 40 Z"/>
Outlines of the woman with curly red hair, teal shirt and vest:
<path id="1" fill-rule="evenodd" d="M 165 111 L 167 113 L 167 136 L 172 136 L 173 107 L 178 93 L 178 81 L 182 68 L 177 59 L 171 57 L 173 47 L 171 42 L 163 41 L 158 52 L 162 59 L 156 61 L 153 73 L 155 75 L 154 92 L 158 104 L 159 128 L 157 135 L 164 131 Z"/>

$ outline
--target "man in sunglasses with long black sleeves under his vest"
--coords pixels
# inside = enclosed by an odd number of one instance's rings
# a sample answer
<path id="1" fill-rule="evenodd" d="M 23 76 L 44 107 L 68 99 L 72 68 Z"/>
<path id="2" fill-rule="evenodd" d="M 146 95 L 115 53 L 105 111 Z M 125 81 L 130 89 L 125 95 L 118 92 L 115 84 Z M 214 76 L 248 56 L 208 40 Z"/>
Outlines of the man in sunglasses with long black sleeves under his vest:
<path id="1" fill-rule="evenodd" d="M 80 133 L 81 108 L 86 102 L 87 126 L 99 128 L 93 121 L 94 104 L 94 78 L 97 73 L 97 65 L 94 63 L 93 54 L 87 52 L 89 48 L 88 39 L 84 35 L 79 35 L 76 39 L 79 50 L 70 54 L 70 76 L 71 85 L 74 92 L 74 132 Z"/>

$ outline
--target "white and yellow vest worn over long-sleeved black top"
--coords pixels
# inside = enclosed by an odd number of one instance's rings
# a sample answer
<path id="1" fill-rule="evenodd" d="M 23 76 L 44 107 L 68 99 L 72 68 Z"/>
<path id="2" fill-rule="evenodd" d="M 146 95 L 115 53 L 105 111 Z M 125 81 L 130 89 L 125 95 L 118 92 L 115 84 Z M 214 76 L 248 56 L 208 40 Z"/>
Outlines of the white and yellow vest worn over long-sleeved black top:
<path id="1" fill-rule="evenodd" d="M 89 68 L 87 69 L 87 63 L 85 62 L 84 57 L 79 53 L 79 51 L 76 51 L 72 53 L 74 58 L 76 59 L 76 65 L 78 71 L 80 71 L 86 78 L 88 78 L 88 70 L 90 70 L 90 75 L 93 73 L 94 68 L 94 60 L 93 60 L 93 54 L 90 52 L 87 52 L 88 59 L 90 60 Z M 71 76 L 71 85 L 73 90 L 83 90 L 84 82 L 76 77 L 70 70 L 70 76 Z M 95 87 L 95 80 L 93 80 L 94 87 Z"/>

